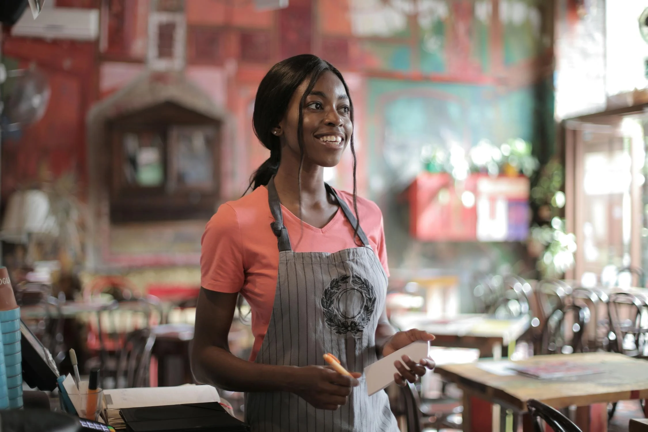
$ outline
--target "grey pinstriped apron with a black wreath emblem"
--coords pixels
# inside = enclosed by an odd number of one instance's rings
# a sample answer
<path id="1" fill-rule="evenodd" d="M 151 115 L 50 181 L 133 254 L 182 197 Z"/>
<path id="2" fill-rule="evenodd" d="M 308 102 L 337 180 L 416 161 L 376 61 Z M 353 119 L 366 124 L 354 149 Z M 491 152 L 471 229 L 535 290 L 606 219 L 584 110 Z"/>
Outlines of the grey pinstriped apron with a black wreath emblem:
<path id="1" fill-rule="evenodd" d="M 356 218 L 343 199 L 326 186 L 352 226 Z M 336 253 L 296 253 L 283 225 L 281 204 L 268 183 L 268 201 L 279 243 L 277 291 L 268 332 L 255 360 L 266 365 L 323 365 L 330 352 L 351 372 L 376 361 L 375 332 L 385 307 L 387 277 L 358 227 L 362 247 Z M 246 420 L 252 431 L 397 432 L 386 392 L 367 396 L 364 376 L 346 405 L 316 409 L 290 392 L 249 392 Z"/>

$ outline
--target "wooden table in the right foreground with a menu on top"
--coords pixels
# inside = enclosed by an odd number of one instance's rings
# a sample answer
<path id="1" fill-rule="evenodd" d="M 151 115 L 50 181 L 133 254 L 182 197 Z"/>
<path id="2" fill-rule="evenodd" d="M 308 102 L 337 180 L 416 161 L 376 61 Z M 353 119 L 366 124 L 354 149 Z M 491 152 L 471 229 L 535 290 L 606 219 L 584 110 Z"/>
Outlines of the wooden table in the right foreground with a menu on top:
<path id="1" fill-rule="evenodd" d="M 480 363 L 443 365 L 436 372 L 464 391 L 463 430 L 491 431 L 491 404 L 513 413 L 513 430 L 526 413 L 529 399 L 556 408 L 576 405 L 577 424 L 583 431 L 607 431 L 607 404 L 618 400 L 648 398 L 648 361 L 622 354 L 592 352 L 536 356 L 515 362 L 521 365 L 546 365 L 552 362 L 592 365 L 601 373 L 553 380 L 537 380 L 518 374 L 502 376 L 480 369 Z M 503 413 L 505 414 L 505 412 Z M 509 421 L 510 423 L 510 421 Z M 502 422 L 505 425 L 505 422 Z M 531 424 L 523 420 L 524 431 Z M 529 429 L 527 429 L 529 428 Z"/>

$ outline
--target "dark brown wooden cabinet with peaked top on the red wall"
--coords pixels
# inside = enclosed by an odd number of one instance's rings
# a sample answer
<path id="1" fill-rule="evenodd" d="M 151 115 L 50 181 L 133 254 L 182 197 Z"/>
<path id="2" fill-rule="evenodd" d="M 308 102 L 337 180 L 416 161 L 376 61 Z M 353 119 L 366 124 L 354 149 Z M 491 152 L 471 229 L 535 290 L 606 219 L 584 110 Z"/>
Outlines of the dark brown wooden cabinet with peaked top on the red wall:
<path id="1" fill-rule="evenodd" d="M 110 122 L 111 222 L 209 218 L 220 122 L 165 102 Z"/>

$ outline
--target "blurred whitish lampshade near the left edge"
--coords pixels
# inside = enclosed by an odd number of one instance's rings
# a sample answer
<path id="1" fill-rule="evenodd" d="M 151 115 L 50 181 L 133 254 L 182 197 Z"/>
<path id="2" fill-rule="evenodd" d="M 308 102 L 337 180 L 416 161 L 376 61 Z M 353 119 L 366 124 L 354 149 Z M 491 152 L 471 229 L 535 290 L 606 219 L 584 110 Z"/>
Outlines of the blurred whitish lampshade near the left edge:
<path id="1" fill-rule="evenodd" d="M 49 199 L 42 190 L 18 190 L 9 197 L 0 239 L 8 243 L 27 244 L 30 234 L 53 233 L 54 217 Z"/>

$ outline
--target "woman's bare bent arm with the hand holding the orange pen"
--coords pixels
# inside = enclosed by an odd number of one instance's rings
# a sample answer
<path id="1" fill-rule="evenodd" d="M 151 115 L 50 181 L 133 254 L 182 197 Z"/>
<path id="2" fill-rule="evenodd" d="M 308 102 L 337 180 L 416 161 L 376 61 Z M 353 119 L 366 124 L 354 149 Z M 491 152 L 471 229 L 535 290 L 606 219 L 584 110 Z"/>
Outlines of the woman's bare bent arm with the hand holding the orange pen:
<path id="1" fill-rule="evenodd" d="M 274 366 L 237 358 L 229 351 L 227 334 L 238 293 L 200 289 L 191 370 L 196 381 L 229 391 L 293 392 L 321 409 L 337 409 L 347 402 L 358 378 L 343 376 L 328 367 Z"/>

